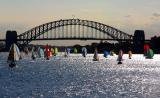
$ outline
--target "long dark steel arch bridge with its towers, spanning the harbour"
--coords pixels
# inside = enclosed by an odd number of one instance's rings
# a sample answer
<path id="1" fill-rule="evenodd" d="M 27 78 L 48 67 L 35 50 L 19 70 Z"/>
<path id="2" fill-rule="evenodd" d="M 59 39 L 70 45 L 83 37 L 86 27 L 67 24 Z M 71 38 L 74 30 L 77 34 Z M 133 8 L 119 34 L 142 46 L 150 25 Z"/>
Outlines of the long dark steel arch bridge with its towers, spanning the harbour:
<path id="1" fill-rule="evenodd" d="M 7 31 L 6 39 L 1 39 L 0 41 L 5 41 L 6 48 L 9 49 L 12 43 L 26 46 L 32 41 L 39 40 L 110 40 L 118 43 L 139 43 L 145 40 L 144 31 L 137 32 L 137 34 L 133 36 L 95 21 L 61 19 L 36 26 L 19 35 L 17 35 L 16 31 Z M 139 36 L 139 34 L 141 35 Z M 134 39 L 136 40 L 134 41 Z"/>

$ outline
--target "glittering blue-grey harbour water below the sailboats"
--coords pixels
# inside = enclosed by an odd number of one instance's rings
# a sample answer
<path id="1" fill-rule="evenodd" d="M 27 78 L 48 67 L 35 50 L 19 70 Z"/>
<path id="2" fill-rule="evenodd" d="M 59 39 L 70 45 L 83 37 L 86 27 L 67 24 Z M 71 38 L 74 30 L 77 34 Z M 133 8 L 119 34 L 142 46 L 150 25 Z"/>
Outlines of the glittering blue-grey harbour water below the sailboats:
<path id="1" fill-rule="evenodd" d="M 9 68 L 8 53 L 0 53 L 0 98 L 159 98 L 160 55 L 145 59 L 124 55 L 93 61 L 93 54 L 63 54 L 50 60 L 25 56 Z"/>

